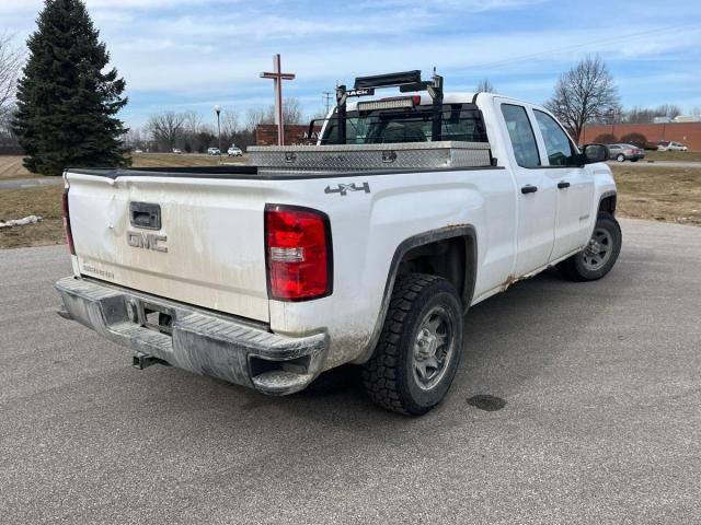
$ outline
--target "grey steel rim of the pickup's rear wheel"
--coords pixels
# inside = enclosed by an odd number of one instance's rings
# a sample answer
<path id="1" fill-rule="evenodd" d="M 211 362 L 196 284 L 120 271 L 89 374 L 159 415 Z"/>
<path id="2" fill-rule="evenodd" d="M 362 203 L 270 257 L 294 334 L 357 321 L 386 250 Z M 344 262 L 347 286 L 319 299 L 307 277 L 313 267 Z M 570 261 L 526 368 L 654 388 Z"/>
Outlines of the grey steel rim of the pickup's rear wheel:
<path id="1" fill-rule="evenodd" d="M 434 306 L 416 331 L 412 373 L 420 388 L 434 388 L 446 375 L 455 350 L 455 323 L 443 306 Z"/>

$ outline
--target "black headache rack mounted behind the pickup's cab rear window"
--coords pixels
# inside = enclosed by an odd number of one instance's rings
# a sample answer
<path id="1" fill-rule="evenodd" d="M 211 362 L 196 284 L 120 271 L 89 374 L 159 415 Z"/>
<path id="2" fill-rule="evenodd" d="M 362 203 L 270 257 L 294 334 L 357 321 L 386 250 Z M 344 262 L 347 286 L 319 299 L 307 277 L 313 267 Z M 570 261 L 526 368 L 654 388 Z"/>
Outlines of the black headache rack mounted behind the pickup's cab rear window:
<path id="1" fill-rule="evenodd" d="M 357 77 L 353 89 L 348 90 L 345 84 L 336 88 L 336 118 L 338 119 L 338 143 L 346 142 L 346 103 L 349 96 L 371 96 L 376 89 L 399 88 L 401 93 L 412 91 L 426 91 L 433 100 L 433 126 L 432 141 L 440 140 L 440 116 L 443 113 L 443 77 L 434 74 L 430 80 L 421 80 L 421 70 L 401 71 L 399 73 L 375 74 L 371 77 Z"/>

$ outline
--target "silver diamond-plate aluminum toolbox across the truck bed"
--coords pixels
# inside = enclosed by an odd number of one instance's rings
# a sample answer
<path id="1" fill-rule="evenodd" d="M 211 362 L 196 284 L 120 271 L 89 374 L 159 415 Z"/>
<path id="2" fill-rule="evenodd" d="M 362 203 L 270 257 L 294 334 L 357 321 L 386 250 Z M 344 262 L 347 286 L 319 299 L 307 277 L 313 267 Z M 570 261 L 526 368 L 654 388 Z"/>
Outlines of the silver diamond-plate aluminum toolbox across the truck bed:
<path id="1" fill-rule="evenodd" d="M 432 170 L 491 165 L 489 142 L 406 142 L 357 145 L 256 145 L 249 163 L 290 171 Z"/>

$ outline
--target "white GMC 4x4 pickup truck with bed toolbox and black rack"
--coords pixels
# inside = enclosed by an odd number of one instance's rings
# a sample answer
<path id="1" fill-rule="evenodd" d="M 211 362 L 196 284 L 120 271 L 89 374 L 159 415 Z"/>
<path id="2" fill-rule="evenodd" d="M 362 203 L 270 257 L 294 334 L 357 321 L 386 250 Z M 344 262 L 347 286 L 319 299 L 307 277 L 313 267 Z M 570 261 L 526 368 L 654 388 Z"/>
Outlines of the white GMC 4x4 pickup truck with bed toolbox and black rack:
<path id="1" fill-rule="evenodd" d="M 354 363 L 374 401 L 421 415 L 471 305 L 550 266 L 588 281 L 616 262 L 607 149 L 579 151 L 547 109 L 444 95 L 420 71 L 336 95 L 318 145 L 251 148 L 251 165 L 67 170 L 59 313 L 138 368 L 266 394 Z"/>

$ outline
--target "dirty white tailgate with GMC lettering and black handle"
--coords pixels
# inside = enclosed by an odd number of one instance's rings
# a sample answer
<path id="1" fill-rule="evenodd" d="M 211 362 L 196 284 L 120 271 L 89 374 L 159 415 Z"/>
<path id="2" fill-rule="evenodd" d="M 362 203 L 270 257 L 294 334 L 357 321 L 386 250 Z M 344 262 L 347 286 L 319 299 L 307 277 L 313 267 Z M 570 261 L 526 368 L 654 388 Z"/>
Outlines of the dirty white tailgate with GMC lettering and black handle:
<path id="1" fill-rule="evenodd" d="M 268 320 L 260 182 L 66 177 L 81 275 Z"/>

